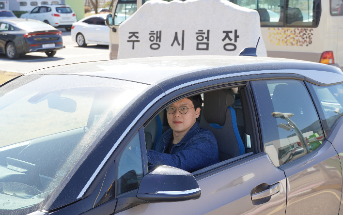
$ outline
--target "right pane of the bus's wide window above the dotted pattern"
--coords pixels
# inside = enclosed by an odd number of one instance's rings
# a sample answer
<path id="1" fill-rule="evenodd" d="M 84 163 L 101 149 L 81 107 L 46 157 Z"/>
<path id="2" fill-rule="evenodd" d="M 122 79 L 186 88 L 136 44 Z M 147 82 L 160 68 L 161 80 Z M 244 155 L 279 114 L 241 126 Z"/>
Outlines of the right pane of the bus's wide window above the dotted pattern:
<path id="1" fill-rule="evenodd" d="M 312 26 L 313 1 L 289 0 L 286 10 L 286 24 L 288 26 Z"/>

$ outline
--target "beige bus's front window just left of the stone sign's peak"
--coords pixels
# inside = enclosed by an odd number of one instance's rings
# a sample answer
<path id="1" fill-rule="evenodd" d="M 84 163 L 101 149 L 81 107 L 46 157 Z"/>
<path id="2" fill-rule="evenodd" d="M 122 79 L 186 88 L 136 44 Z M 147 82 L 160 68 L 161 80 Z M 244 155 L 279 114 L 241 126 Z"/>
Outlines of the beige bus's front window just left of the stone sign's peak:
<path id="1" fill-rule="evenodd" d="M 120 0 L 115 9 L 114 25 L 120 25 L 126 19 L 128 19 L 137 10 L 136 2 L 125 2 Z"/>

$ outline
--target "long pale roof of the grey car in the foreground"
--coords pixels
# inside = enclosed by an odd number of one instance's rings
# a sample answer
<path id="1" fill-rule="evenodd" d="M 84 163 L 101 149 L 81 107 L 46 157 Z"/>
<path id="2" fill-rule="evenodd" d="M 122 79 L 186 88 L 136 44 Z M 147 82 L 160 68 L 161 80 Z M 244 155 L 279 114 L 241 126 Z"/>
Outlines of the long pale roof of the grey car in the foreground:
<path id="1" fill-rule="evenodd" d="M 324 75 L 324 72 L 329 75 Z M 158 84 L 180 76 L 194 79 L 199 77 L 200 73 L 202 77 L 206 77 L 206 74 L 207 77 L 234 77 L 288 73 L 325 84 L 343 81 L 343 72 L 334 66 L 309 61 L 247 56 L 168 56 L 94 61 L 40 69 L 26 75 L 84 75 Z"/>

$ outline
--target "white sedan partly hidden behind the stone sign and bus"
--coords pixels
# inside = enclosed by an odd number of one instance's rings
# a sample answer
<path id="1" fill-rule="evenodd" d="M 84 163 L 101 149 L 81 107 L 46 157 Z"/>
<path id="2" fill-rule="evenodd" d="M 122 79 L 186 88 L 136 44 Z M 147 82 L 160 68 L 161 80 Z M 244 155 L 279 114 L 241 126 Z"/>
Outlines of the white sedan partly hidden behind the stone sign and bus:
<path id="1" fill-rule="evenodd" d="M 71 30 L 72 40 L 78 46 L 94 43 L 109 45 L 109 27 L 105 25 L 107 14 L 90 15 L 74 23 Z"/>

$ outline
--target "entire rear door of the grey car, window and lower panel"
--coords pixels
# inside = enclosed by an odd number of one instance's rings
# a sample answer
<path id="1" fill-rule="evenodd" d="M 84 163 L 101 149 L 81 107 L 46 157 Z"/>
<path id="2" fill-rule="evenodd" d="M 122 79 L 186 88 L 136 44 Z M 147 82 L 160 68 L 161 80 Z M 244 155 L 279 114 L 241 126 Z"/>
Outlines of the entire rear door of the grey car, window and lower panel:
<path id="1" fill-rule="evenodd" d="M 267 153 L 287 178 L 286 215 L 337 215 L 342 193 L 338 154 L 325 139 L 301 80 L 251 81 Z"/>

